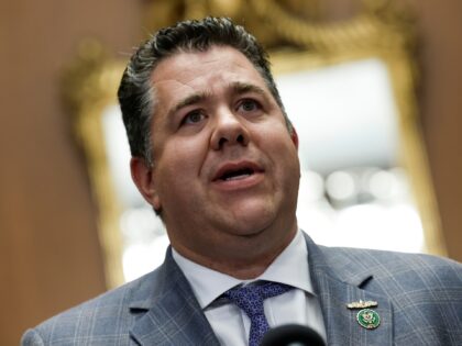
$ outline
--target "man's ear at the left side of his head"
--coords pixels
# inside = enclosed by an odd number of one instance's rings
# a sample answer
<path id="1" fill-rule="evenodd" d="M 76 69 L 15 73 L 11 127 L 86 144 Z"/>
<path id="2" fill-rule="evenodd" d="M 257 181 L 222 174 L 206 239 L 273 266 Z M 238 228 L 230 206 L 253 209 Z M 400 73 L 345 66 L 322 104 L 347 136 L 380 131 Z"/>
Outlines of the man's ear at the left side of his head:
<path id="1" fill-rule="evenodd" d="M 130 170 L 132 172 L 133 182 L 138 190 L 150 203 L 154 210 L 161 210 L 161 199 L 154 183 L 153 168 L 140 157 L 132 157 L 130 160 Z"/>

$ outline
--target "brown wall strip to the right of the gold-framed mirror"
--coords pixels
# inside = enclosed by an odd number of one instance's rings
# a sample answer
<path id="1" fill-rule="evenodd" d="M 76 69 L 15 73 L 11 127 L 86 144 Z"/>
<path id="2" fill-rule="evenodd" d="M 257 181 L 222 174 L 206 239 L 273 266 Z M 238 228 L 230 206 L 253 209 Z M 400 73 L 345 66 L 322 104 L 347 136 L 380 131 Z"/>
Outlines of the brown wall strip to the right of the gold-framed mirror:
<path id="1" fill-rule="evenodd" d="M 421 122 L 449 257 L 462 261 L 462 2 L 407 0 L 419 34 Z"/>

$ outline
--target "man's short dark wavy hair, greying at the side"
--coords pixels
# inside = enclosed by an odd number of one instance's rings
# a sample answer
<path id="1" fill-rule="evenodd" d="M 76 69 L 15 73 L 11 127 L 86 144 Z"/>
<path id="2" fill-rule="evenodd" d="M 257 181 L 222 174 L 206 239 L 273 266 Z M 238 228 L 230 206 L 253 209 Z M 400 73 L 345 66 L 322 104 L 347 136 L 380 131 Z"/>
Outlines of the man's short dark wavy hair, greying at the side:
<path id="1" fill-rule="evenodd" d="M 292 131 L 279 92 L 270 70 L 268 55 L 256 38 L 228 18 L 178 22 L 160 30 L 131 57 L 119 87 L 119 102 L 133 157 L 153 164 L 151 123 L 155 107 L 155 89 L 151 76 L 158 63 L 180 52 L 206 52 L 211 46 L 231 46 L 241 52 L 265 80 L 280 107 Z"/>

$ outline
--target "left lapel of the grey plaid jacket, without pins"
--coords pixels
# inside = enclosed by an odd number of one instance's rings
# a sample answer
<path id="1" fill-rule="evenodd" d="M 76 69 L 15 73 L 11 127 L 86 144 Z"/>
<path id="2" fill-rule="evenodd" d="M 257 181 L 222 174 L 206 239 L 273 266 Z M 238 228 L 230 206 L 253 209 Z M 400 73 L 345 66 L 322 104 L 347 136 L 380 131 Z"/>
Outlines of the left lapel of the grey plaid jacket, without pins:
<path id="1" fill-rule="evenodd" d="M 131 311 L 140 317 L 130 334 L 140 345 L 219 345 L 170 249 L 156 277 L 136 294 Z"/>

